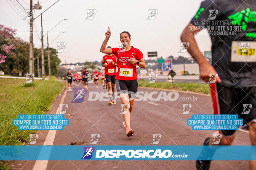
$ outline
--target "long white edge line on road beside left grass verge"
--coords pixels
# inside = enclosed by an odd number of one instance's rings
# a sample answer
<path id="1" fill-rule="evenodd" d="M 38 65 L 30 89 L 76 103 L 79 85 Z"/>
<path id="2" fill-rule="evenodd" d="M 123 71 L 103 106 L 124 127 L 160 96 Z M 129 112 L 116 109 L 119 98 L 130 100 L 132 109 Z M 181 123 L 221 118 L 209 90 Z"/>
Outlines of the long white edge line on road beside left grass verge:
<path id="1" fill-rule="evenodd" d="M 67 90 L 65 90 L 63 96 L 61 97 L 60 104 L 63 104 L 66 94 L 67 94 Z M 58 111 L 59 111 L 59 108 L 57 109 L 55 114 L 57 114 Z M 48 131 L 48 134 L 47 134 L 46 139 L 44 141 L 44 145 L 50 145 L 50 146 L 53 145 L 56 132 L 57 132 L 57 130 L 49 130 Z M 42 155 L 42 154 L 45 154 L 45 151 L 46 150 L 41 150 L 40 153 L 39 153 L 39 156 Z M 51 153 L 50 150 L 48 150 L 48 152 L 49 152 L 48 155 L 50 156 L 50 153 Z M 48 160 L 44 160 L 44 161 L 37 160 L 37 161 L 35 161 L 35 165 L 34 165 L 32 170 L 46 170 L 47 164 L 48 164 Z"/>

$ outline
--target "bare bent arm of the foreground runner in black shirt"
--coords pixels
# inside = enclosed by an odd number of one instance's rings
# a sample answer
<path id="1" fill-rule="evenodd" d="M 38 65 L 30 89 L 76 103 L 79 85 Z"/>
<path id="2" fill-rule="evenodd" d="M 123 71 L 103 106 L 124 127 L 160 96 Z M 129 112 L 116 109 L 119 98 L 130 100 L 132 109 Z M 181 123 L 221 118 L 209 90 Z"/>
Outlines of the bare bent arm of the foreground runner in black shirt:
<path id="1" fill-rule="evenodd" d="M 194 30 L 194 31 L 190 31 Z M 182 42 L 189 42 L 189 48 L 187 51 L 189 54 L 196 60 L 196 62 L 199 65 L 199 71 L 200 71 L 200 78 L 204 80 L 205 82 L 209 81 L 209 73 L 217 73 L 215 69 L 212 67 L 212 65 L 209 64 L 207 59 L 204 57 L 204 55 L 201 53 L 201 51 L 198 48 L 198 45 L 195 41 L 194 35 L 201 31 L 198 27 L 194 26 L 193 24 L 189 23 L 186 28 L 183 30 L 180 40 Z M 221 82 L 221 79 L 218 77 L 216 82 Z"/>

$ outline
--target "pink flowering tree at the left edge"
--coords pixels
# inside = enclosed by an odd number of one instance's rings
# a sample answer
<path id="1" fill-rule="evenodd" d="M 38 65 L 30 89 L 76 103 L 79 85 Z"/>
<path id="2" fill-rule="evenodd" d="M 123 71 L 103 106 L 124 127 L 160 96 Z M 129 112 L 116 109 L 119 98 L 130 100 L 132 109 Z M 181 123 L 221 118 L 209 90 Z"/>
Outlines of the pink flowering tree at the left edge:
<path id="1" fill-rule="evenodd" d="M 5 58 L 15 49 L 20 42 L 20 38 L 15 38 L 17 30 L 0 25 L 0 63 L 5 62 Z"/>

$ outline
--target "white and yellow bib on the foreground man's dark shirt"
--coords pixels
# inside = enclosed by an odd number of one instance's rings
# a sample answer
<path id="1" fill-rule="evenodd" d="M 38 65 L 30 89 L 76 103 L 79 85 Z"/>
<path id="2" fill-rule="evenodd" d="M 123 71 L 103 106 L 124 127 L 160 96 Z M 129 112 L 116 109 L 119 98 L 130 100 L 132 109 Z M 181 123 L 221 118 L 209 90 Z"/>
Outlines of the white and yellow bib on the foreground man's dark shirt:
<path id="1" fill-rule="evenodd" d="M 256 62 L 256 42 L 232 41 L 231 62 Z"/>

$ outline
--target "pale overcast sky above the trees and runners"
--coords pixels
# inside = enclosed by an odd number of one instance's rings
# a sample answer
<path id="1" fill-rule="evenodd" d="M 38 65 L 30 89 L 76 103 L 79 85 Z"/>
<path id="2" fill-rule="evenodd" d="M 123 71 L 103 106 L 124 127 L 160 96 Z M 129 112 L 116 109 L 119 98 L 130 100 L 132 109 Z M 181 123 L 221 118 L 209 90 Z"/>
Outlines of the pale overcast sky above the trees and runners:
<path id="1" fill-rule="evenodd" d="M 29 0 L 18 0 L 29 9 Z M 57 0 L 41 0 L 41 10 L 35 10 L 34 17 L 47 9 Z M 33 4 L 37 3 L 33 0 Z M 118 47 L 119 34 L 131 33 L 131 45 L 139 48 L 145 55 L 148 51 L 157 51 L 158 56 L 190 57 L 180 50 L 180 34 L 200 6 L 201 0 L 60 0 L 43 14 L 43 31 L 49 31 L 61 20 L 49 34 L 49 43 L 61 32 L 49 46 L 57 48 L 56 42 L 66 42 L 63 53 L 58 56 L 62 63 L 102 60 L 104 54 L 99 49 L 105 39 L 105 32 L 111 28 L 108 45 Z M 96 9 L 93 20 L 85 20 L 87 9 Z M 148 10 L 158 11 L 154 20 L 148 18 Z M 25 11 L 16 0 L 0 0 L 0 24 L 17 29 L 17 37 L 29 42 L 29 20 L 23 20 Z M 205 31 L 206 32 L 206 31 Z M 34 45 L 41 48 L 41 17 L 34 21 Z M 210 51 L 208 35 L 196 36 L 201 51 Z M 44 47 L 47 39 L 44 37 Z M 145 56 L 145 59 L 148 59 Z"/>

